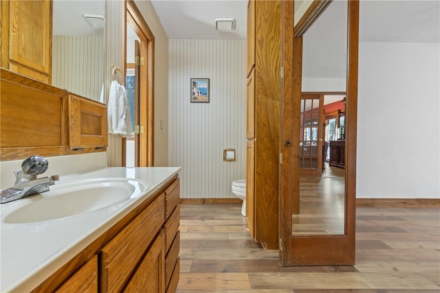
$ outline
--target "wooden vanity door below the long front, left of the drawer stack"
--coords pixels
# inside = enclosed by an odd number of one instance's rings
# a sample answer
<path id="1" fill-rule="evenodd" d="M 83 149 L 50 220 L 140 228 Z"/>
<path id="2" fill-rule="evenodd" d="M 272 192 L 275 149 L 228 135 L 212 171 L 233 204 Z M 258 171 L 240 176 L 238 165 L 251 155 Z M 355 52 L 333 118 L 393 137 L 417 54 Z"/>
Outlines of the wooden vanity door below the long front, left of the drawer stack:
<path id="1" fill-rule="evenodd" d="M 153 242 L 123 292 L 165 292 L 164 231 Z"/>

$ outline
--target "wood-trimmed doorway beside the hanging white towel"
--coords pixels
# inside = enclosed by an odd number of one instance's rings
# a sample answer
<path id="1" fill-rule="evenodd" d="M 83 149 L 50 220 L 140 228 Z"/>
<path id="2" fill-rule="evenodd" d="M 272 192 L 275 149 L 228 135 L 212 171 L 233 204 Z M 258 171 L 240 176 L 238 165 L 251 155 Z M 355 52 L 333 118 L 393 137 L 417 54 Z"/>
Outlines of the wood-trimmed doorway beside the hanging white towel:
<path id="1" fill-rule="evenodd" d="M 122 165 L 151 167 L 154 165 L 154 35 L 134 1 L 126 1 L 126 89 L 132 137 L 122 139 Z"/>

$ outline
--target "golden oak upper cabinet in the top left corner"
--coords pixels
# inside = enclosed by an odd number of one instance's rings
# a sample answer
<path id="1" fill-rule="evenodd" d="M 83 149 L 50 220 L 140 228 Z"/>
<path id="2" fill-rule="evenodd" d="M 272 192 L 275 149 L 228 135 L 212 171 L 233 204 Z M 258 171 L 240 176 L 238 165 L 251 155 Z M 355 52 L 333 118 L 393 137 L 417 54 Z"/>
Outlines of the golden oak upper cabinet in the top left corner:
<path id="1" fill-rule="evenodd" d="M 1 1 L 1 18 L 1 67 L 52 84 L 52 1 Z"/>

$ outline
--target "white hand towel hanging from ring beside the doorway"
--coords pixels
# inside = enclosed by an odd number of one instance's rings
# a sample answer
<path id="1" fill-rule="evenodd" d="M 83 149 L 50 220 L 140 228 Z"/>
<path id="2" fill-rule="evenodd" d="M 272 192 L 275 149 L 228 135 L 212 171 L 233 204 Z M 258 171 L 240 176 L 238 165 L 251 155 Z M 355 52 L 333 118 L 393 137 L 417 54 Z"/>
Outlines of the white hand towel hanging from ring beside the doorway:
<path id="1" fill-rule="evenodd" d="M 115 80 L 110 85 L 107 121 L 109 133 L 123 134 L 124 136 L 133 134 L 126 89 Z"/>

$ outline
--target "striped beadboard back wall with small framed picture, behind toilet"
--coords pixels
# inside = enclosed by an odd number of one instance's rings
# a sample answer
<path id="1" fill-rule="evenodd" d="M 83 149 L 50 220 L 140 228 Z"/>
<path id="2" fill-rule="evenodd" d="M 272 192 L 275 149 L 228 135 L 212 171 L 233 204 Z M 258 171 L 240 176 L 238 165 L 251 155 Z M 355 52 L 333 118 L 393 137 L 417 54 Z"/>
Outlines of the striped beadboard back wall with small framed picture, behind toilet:
<path id="1" fill-rule="evenodd" d="M 169 40 L 168 164 L 181 198 L 232 198 L 245 178 L 245 40 Z M 210 102 L 190 102 L 190 78 L 210 79 Z M 223 161 L 223 149 L 236 161 Z"/>

